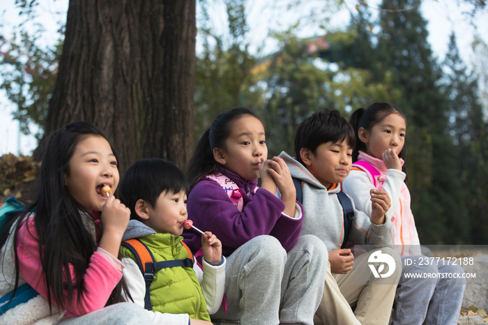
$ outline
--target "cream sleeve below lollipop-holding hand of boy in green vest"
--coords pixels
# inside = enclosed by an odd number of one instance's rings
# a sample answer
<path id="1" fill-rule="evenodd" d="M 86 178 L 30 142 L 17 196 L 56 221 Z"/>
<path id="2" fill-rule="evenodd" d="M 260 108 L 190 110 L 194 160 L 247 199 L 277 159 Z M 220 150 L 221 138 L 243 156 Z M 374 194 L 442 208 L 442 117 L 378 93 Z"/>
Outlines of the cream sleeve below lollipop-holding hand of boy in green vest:
<path id="1" fill-rule="evenodd" d="M 193 264 L 193 271 L 197 275 L 198 282 L 200 282 L 201 293 L 204 294 L 207 311 L 209 315 L 215 314 L 222 304 L 225 289 L 225 264 L 226 259 L 222 256 L 220 264 L 209 264 L 203 258 L 201 259 L 203 271 L 197 265 Z"/>

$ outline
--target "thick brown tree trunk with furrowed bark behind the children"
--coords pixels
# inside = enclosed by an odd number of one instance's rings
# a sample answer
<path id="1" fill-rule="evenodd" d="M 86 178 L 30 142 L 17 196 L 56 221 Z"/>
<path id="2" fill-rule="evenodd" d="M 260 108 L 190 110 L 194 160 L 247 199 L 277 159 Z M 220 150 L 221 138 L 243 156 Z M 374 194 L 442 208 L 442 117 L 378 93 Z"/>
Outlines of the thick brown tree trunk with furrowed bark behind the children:
<path id="1" fill-rule="evenodd" d="M 193 146 L 195 0 L 70 0 L 45 135 L 73 121 L 105 131 L 123 173 L 141 158 L 184 167 Z"/>

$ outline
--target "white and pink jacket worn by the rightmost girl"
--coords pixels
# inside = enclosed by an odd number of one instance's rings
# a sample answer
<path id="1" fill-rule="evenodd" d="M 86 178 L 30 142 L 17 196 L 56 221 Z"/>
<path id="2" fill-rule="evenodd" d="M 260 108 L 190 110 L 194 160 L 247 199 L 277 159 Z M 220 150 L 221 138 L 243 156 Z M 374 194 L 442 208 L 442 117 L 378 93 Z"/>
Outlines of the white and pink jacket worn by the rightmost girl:
<path id="1" fill-rule="evenodd" d="M 402 160 L 402 165 L 403 163 Z M 404 183 L 404 172 L 386 169 L 383 160 L 360 151 L 358 162 L 353 164 L 351 173 L 342 183 L 342 190 L 352 197 L 358 210 L 371 216 L 369 190 L 378 188 L 383 180 L 379 181 L 380 176 L 385 178 L 381 186 L 391 199 L 391 207 L 386 216 L 395 228 L 395 250 L 400 255 L 420 255 L 420 241 L 411 211 L 409 188 Z"/>

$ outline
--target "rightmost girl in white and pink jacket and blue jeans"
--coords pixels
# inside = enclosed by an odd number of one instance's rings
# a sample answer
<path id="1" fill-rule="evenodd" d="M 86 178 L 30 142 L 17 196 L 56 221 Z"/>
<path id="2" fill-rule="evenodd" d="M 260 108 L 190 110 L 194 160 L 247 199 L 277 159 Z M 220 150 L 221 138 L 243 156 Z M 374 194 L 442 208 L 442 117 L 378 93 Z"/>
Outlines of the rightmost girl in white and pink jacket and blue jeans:
<path id="1" fill-rule="evenodd" d="M 399 280 L 392 324 L 457 324 L 466 279 L 459 265 L 436 259 L 421 265 L 415 220 L 410 206 L 410 192 L 404 182 L 403 163 L 406 157 L 406 117 L 390 103 L 374 103 L 357 109 L 349 120 L 356 133 L 353 168 L 342 183 L 356 208 L 371 213 L 369 190 L 383 188 L 391 199 L 386 218 L 395 227 L 395 250 L 402 255 L 402 277 Z M 409 277 L 412 273 L 436 275 Z M 417 274 L 419 275 L 419 274 Z"/>

